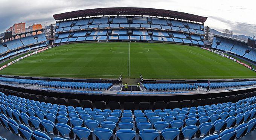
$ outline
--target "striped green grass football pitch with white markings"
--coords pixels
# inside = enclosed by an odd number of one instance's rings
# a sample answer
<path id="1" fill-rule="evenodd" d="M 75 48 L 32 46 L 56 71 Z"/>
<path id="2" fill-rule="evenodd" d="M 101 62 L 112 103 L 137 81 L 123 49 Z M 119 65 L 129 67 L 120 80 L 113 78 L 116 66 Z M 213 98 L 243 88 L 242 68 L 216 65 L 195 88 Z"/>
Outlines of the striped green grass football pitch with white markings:
<path id="1" fill-rule="evenodd" d="M 130 52 L 129 52 L 130 51 Z M 162 43 L 80 43 L 51 48 L 0 71 L 72 78 L 227 79 L 256 73 L 199 47 Z"/>

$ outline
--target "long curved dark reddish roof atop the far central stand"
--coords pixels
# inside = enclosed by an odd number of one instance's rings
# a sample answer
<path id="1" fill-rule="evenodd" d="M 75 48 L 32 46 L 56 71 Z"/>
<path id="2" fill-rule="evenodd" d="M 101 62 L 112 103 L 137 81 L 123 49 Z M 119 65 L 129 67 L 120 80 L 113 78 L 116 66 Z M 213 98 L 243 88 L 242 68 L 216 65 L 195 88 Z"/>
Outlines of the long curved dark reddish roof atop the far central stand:
<path id="1" fill-rule="evenodd" d="M 154 8 L 134 8 L 134 7 L 118 7 L 118 8 L 96 8 L 85 9 L 73 12 L 66 12 L 62 14 L 55 14 L 55 20 L 64 20 L 69 18 L 87 17 L 95 15 L 152 15 L 160 17 L 179 18 L 184 20 L 191 20 L 204 23 L 207 17 L 199 15 L 187 14 L 184 12 L 170 11 L 164 9 Z"/>

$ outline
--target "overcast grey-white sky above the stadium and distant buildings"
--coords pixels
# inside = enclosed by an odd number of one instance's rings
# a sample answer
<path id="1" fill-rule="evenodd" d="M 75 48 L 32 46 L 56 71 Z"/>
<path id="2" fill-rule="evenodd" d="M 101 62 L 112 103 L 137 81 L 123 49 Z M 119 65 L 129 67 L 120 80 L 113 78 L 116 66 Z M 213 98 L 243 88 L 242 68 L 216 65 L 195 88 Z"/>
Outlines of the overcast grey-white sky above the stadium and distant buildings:
<path id="1" fill-rule="evenodd" d="M 0 33 L 15 23 L 43 26 L 54 23 L 53 14 L 91 8 L 144 7 L 208 17 L 204 25 L 236 35 L 256 34 L 254 0 L 1 0 Z M 47 24 L 46 24 L 47 22 Z"/>

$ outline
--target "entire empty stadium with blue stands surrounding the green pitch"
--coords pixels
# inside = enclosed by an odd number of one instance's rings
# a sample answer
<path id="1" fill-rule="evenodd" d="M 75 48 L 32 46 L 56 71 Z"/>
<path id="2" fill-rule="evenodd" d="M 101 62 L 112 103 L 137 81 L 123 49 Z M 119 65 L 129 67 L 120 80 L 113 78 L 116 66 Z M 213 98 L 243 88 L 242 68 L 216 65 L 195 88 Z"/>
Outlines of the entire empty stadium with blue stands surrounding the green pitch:
<path id="1" fill-rule="evenodd" d="M 1 140 L 256 138 L 256 40 L 164 9 L 53 18 L 0 36 Z"/>

